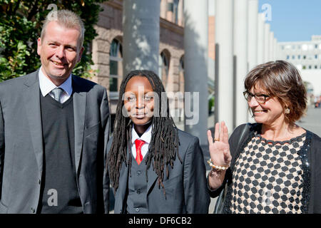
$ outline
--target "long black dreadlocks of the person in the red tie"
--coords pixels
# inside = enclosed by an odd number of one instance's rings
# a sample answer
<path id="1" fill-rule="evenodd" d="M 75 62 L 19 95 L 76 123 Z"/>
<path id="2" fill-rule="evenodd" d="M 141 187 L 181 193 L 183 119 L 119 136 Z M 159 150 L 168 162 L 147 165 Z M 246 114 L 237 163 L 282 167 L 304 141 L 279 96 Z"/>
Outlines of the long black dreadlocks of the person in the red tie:
<path id="1" fill-rule="evenodd" d="M 133 124 L 129 117 L 123 115 L 122 110 L 123 94 L 125 93 L 126 85 L 134 76 L 146 77 L 151 83 L 154 93 L 156 93 L 159 98 L 158 100 L 155 100 L 154 98 L 154 102 L 158 102 L 158 104 L 155 105 L 158 105 L 159 108 L 154 108 L 153 119 L 151 123 L 153 126 L 153 131 L 151 143 L 148 148 L 148 154 L 146 155 L 146 179 L 148 181 L 147 170 L 149 167 L 151 167 L 151 162 L 153 162 L 153 170 L 158 175 L 158 186 L 162 186 L 164 189 L 164 168 L 166 169 L 166 175 L 168 177 L 168 166 L 170 165 L 170 167 L 173 168 L 175 157 L 178 155 L 178 130 L 175 128 L 173 118 L 170 117 L 168 98 L 165 95 L 165 89 L 161 79 L 153 71 L 146 70 L 131 71 L 128 73 L 126 78 L 123 78 L 123 81 L 121 82 L 118 105 L 116 109 L 116 119 L 113 128 L 113 142 L 107 158 L 111 185 L 115 190 L 118 189 L 119 175 L 123 162 L 126 162 L 126 166 L 128 165 L 129 170 L 131 170 L 131 156 L 128 156 L 128 159 L 126 160 L 126 154 L 127 148 L 131 148 L 131 128 Z M 162 101 L 166 101 L 165 107 L 162 107 Z M 163 110 L 164 108 L 165 110 Z M 178 159 L 180 162 L 182 162 L 179 155 Z"/>

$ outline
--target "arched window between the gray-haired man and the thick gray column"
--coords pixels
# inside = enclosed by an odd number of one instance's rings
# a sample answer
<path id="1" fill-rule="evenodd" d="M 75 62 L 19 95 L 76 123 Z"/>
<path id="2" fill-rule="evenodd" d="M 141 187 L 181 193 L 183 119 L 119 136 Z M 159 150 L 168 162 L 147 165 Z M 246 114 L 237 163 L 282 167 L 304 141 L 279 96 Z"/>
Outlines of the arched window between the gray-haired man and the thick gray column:
<path id="1" fill-rule="evenodd" d="M 109 91 L 111 96 L 117 95 L 115 93 L 118 92 L 121 85 L 122 75 L 123 48 L 121 42 L 114 38 L 111 42 L 111 50 L 109 51 Z"/>

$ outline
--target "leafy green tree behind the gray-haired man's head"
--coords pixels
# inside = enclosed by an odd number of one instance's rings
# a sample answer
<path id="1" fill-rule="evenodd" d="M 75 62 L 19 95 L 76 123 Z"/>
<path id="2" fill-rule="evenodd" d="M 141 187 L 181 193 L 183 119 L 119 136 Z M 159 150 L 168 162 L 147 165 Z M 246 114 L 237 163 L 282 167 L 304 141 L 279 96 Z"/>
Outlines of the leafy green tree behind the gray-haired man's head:
<path id="1" fill-rule="evenodd" d="M 31 73 L 41 66 L 37 38 L 41 33 L 42 21 L 53 9 L 69 9 L 83 19 L 86 28 L 83 41 L 85 50 L 73 73 L 83 77 L 93 76 L 95 71 L 91 69 L 93 61 L 89 49 L 91 41 L 97 36 L 93 25 L 97 23 L 102 10 L 99 6 L 101 2 L 103 0 L 0 0 L 0 82 Z"/>

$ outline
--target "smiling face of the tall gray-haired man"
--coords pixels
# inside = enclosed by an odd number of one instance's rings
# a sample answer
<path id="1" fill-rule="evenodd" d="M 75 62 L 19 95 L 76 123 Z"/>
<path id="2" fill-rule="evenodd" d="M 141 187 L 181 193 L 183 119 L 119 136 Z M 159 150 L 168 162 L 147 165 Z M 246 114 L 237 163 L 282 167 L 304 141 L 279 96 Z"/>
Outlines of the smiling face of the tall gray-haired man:
<path id="1" fill-rule="evenodd" d="M 66 81 L 76 63 L 81 60 L 83 47 L 78 43 L 79 36 L 78 29 L 65 28 L 51 21 L 46 27 L 44 38 L 38 38 L 37 52 L 44 74 L 56 86 Z"/>

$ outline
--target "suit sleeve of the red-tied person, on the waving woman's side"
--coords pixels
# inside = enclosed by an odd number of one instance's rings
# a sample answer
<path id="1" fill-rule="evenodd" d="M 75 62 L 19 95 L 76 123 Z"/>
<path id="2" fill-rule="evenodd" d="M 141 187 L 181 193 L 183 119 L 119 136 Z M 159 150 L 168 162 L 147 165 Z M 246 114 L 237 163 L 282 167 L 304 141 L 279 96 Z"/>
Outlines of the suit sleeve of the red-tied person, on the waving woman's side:
<path id="1" fill-rule="evenodd" d="M 207 214 L 210 196 L 207 191 L 203 151 L 198 138 L 190 143 L 184 161 L 184 197 L 187 213 Z"/>

